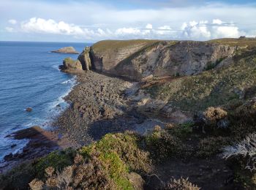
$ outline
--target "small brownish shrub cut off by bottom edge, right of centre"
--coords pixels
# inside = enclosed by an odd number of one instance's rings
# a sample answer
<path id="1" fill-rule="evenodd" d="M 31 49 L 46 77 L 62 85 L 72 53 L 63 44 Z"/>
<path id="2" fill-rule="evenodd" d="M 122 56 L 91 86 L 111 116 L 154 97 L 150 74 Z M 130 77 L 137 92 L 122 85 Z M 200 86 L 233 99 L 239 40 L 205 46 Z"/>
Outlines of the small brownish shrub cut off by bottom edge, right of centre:
<path id="1" fill-rule="evenodd" d="M 165 190 L 199 190 L 200 188 L 189 182 L 188 178 L 171 179 L 165 184 Z"/>

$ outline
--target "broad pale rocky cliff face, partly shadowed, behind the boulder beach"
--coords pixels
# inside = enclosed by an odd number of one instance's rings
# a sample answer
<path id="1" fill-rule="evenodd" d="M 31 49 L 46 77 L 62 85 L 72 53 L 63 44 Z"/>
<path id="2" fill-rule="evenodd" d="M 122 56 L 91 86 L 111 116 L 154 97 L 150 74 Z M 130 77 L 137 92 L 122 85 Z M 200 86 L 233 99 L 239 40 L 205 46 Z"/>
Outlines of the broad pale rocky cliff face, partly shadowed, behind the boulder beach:
<path id="1" fill-rule="evenodd" d="M 105 46 L 105 50 L 91 47 L 93 68 L 132 80 L 149 75 L 195 75 L 232 57 L 237 49 L 211 42 L 148 41 L 132 45 L 129 41 L 112 42 L 123 45 L 112 48 L 109 41 L 102 41 L 96 47 Z"/>

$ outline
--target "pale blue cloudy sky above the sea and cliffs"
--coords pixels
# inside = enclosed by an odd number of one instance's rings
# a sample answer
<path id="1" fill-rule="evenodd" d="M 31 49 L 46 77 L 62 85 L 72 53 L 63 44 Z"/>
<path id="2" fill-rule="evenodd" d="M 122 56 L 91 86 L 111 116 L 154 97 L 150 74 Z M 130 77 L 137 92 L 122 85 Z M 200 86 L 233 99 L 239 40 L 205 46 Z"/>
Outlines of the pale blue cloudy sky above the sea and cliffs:
<path id="1" fill-rule="evenodd" d="M 256 37 L 252 0 L 0 0 L 0 41 Z"/>

